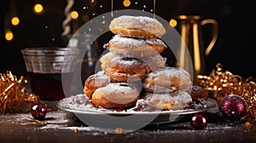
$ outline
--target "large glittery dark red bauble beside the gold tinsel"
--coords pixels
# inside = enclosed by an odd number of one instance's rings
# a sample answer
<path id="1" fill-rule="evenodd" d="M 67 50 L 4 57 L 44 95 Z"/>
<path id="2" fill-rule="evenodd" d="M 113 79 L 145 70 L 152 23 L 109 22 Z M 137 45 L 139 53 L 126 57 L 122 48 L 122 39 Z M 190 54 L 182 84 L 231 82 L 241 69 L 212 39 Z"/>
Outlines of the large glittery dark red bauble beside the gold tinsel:
<path id="1" fill-rule="evenodd" d="M 219 103 L 219 111 L 229 121 L 236 121 L 247 113 L 247 103 L 240 96 L 230 94 Z"/>

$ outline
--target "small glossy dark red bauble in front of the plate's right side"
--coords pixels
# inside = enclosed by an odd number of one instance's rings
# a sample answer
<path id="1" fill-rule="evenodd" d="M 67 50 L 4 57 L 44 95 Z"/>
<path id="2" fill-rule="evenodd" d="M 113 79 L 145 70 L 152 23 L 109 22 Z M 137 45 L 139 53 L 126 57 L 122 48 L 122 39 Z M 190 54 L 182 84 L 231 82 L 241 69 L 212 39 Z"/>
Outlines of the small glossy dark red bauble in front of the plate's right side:
<path id="1" fill-rule="evenodd" d="M 191 118 L 191 125 L 195 129 L 204 129 L 207 127 L 207 117 L 203 114 L 195 114 Z"/>

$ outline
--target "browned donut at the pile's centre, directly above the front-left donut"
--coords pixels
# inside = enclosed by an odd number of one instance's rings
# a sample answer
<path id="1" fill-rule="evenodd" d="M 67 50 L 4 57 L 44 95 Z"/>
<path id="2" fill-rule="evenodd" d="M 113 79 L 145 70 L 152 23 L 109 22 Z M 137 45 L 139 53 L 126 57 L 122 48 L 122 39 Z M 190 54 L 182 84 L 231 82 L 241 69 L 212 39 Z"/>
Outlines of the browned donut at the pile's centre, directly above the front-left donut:
<path id="1" fill-rule="evenodd" d="M 148 66 L 142 60 L 123 58 L 111 60 L 106 75 L 119 82 L 127 82 L 143 79 L 148 71 Z"/>

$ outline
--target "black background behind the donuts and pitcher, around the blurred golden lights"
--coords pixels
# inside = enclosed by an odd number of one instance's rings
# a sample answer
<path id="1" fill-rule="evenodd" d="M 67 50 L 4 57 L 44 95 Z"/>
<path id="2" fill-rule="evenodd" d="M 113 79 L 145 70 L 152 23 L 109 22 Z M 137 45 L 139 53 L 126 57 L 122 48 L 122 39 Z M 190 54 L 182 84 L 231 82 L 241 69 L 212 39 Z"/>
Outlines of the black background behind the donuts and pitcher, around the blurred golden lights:
<path id="1" fill-rule="evenodd" d="M 140 9 L 151 12 L 153 0 L 131 0 L 131 6 L 125 8 L 123 0 L 113 0 L 113 10 Z M 137 4 L 136 4 L 137 2 Z M 13 4 L 15 3 L 15 4 Z M 44 5 L 44 14 L 34 14 L 34 3 Z M 66 46 L 61 32 L 61 23 L 65 19 L 66 0 L 3 0 L 0 4 L 0 72 L 7 70 L 17 76 L 26 75 L 26 68 L 20 49 L 26 47 Z M 146 7 L 144 7 L 144 5 Z M 85 8 L 85 9 L 84 9 Z M 82 26 L 87 14 L 90 19 L 110 12 L 111 0 L 75 1 L 73 10 L 79 12 L 79 20 L 73 26 Z M 20 19 L 18 26 L 9 25 L 14 32 L 14 40 L 4 38 L 4 22 L 8 23 L 8 14 L 16 14 Z M 198 14 L 218 20 L 219 35 L 207 60 L 207 72 L 218 62 L 224 69 L 244 78 L 256 77 L 255 35 L 256 4 L 253 0 L 156 0 L 156 14 L 169 21 L 179 14 Z M 73 29 L 75 31 L 75 29 Z M 207 40 L 206 40 L 207 41 Z M 206 43 L 207 44 L 207 43 Z"/>

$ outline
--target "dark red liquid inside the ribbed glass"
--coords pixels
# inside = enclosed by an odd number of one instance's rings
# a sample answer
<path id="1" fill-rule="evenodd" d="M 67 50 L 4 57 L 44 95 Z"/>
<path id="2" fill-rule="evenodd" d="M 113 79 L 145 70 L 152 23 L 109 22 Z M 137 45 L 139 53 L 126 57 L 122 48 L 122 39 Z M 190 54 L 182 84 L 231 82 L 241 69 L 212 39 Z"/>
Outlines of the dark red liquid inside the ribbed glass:
<path id="1" fill-rule="evenodd" d="M 39 100 L 61 100 L 66 98 L 63 89 L 67 91 L 67 95 L 70 92 L 70 86 L 63 87 L 61 82 L 71 82 L 73 75 L 70 73 L 62 73 L 67 77 L 63 81 L 61 80 L 61 73 L 33 73 L 28 72 L 28 77 L 31 83 L 31 89 L 33 94 L 39 96 Z"/>

